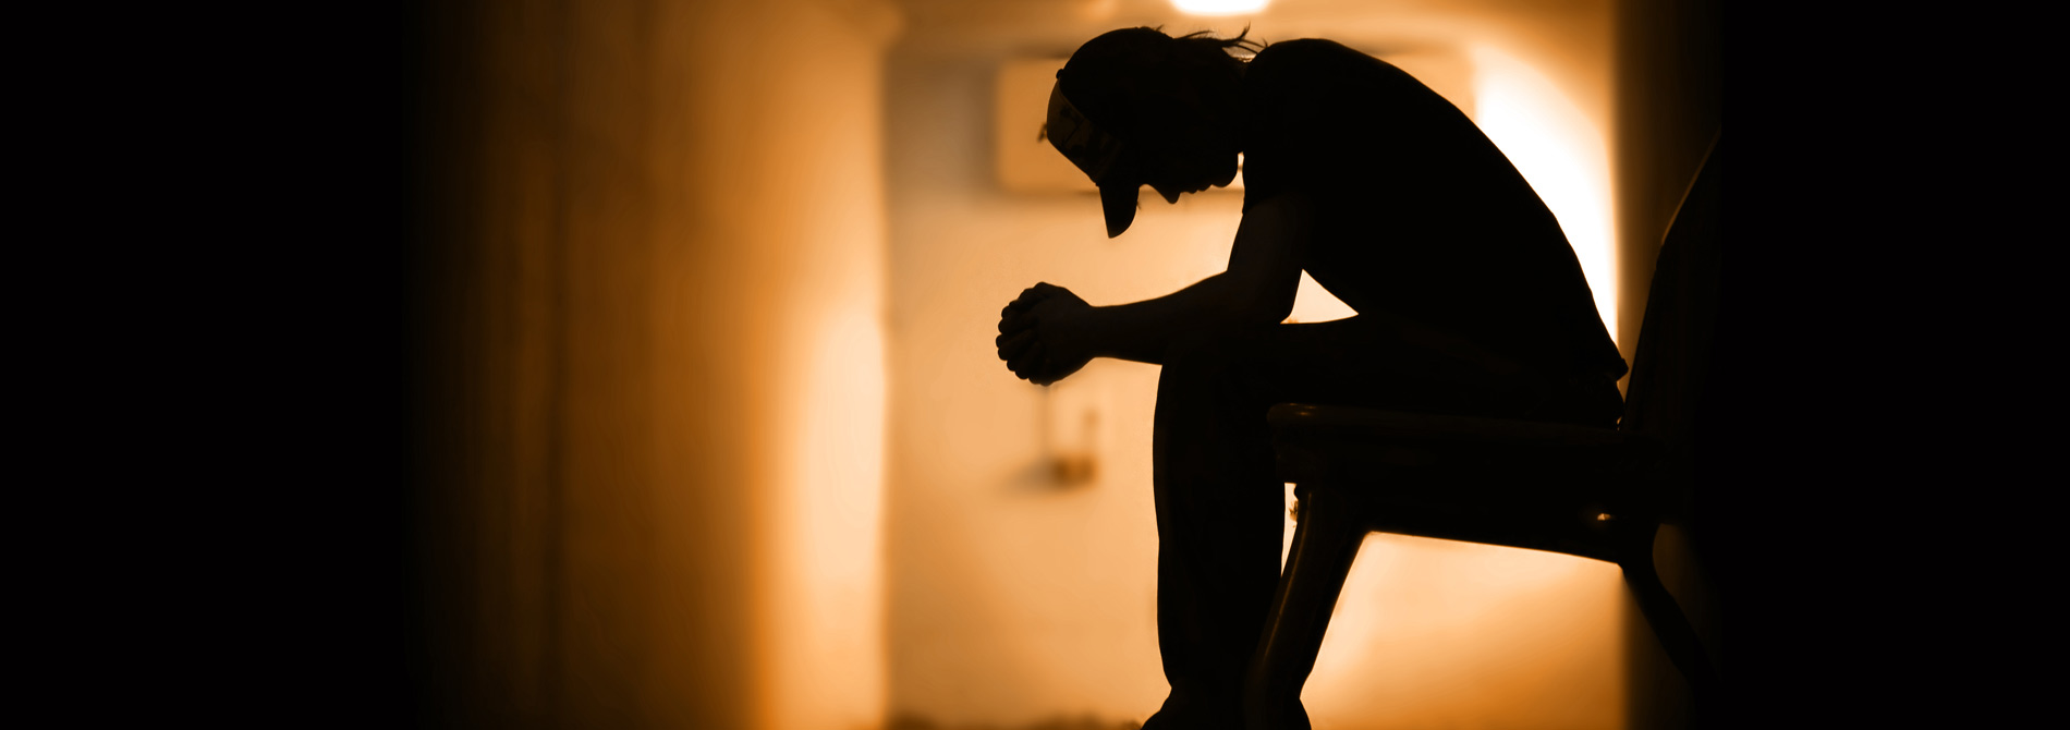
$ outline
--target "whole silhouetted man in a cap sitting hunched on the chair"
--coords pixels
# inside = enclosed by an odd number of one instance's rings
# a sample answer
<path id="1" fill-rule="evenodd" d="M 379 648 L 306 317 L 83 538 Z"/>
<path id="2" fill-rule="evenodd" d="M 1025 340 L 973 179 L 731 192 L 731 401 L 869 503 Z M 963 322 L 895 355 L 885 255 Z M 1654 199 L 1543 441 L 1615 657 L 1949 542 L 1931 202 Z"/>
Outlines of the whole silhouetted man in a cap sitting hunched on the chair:
<path id="1" fill-rule="evenodd" d="M 1552 213 L 1472 120 L 1395 66 L 1325 39 L 1112 31 L 1058 72 L 1047 136 L 1099 186 L 1110 238 L 1134 221 L 1138 186 L 1178 203 L 1230 184 L 1244 153 L 1228 271 L 1120 306 L 1037 283 L 1000 318 L 1000 358 L 1033 383 L 1091 358 L 1163 366 L 1157 645 L 1172 695 L 1145 728 L 1242 726 L 1285 509 L 1267 407 L 1592 426 L 1623 409 L 1625 362 Z M 1283 325 L 1302 271 L 1358 316 Z M 1283 711 L 1306 726 L 1298 703 Z"/>

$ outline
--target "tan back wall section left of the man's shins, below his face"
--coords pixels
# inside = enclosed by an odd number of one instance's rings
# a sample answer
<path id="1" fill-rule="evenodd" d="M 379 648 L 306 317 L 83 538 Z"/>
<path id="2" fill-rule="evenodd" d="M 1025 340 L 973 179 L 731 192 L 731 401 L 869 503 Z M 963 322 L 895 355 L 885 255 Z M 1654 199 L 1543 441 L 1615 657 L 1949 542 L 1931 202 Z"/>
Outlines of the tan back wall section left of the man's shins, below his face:
<path id="1" fill-rule="evenodd" d="M 1221 271 L 1242 201 L 1147 199 L 1128 236 L 1107 240 L 1093 196 L 1002 192 L 989 110 L 1004 58 L 905 43 L 888 68 L 892 709 L 950 728 L 1141 722 L 1163 699 L 1149 579 L 1157 368 L 1093 362 L 1045 393 L 1006 372 L 992 337 L 1035 281 L 1105 304 Z M 1083 424 L 1066 405 L 1103 407 L 1085 484 L 1056 484 L 1043 461 L 1045 420 Z"/>

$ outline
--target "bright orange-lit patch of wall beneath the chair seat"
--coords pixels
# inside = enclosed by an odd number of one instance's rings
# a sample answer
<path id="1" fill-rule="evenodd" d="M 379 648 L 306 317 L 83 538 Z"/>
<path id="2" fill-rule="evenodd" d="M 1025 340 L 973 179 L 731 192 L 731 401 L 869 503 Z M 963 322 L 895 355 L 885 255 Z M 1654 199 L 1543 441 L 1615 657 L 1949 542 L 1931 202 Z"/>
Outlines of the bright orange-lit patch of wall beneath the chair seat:
<path id="1" fill-rule="evenodd" d="M 1621 728 L 1610 562 L 1366 536 L 1302 693 L 1319 728 Z"/>

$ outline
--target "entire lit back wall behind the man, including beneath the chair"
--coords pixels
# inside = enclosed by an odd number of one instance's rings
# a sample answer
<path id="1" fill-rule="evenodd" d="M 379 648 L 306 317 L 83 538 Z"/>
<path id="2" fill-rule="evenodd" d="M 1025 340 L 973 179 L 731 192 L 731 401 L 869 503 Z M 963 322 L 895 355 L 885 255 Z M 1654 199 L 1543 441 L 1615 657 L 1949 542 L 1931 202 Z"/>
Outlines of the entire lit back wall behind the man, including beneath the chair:
<path id="1" fill-rule="evenodd" d="M 1097 199 L 1008 194 L 992 170 L 992 81 L 1008 58 L 1068 56 L 1128 25 L 1225 35 L 1244 25 L 1155 6 L 909 4 L 886 70 L 894 726 L 1105 726 L 1141 722 L 1163 699 L 1149 482 L 1157 368 L 1095 362 L 1043 391 L 1014 381 L 992 345 L 1000 306 L 1035 281 L 1114 304 L 1225 263 L 1240 194 L 1149 196 L 1134 227 L 1107 240 Z M 1511 12 L 1519 6 L 1528 12 Z M 1252 33 L 1468 64 L 1468 48 L 1495 50 L 1592 126 L 1606 180 L 1608 4 L 1449 8 L 1267 12 Z M 1296 316 L 1346 314 L 1333 304 L 1304 285 Z M 1056 480 L 1052 459 L 1066 453 L 1089 453 L 1091 478 Z M 1623 726 L 1623 602 L 1602 562 L 1374 536 L 1304 697 L 1319 728 Z"/>

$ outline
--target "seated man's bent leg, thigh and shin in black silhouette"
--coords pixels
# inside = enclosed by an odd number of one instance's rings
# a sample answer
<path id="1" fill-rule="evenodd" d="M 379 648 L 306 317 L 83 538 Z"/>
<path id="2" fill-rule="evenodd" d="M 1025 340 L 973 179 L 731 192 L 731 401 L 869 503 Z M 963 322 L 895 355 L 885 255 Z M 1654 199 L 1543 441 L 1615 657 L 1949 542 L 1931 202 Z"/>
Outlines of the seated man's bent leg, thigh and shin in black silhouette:
<path id="1" fill-rule="evenodd" d="M 1157 383 L 1157 643 L 1172 697 L 1145 724 L 1238 728 L 1244 664 L 1279 581 L 1285 492 L 1273 403 L 1513 414 L 1532 391 L 1505 364 L 1414 343 L 1370 318 L 1180 337 Z"/>

